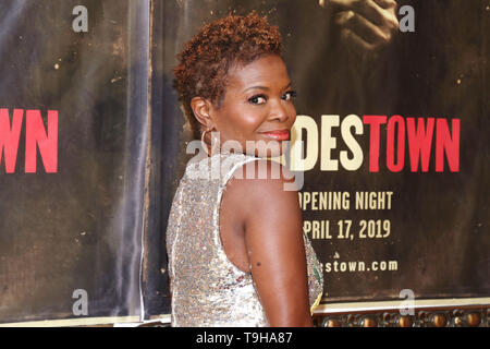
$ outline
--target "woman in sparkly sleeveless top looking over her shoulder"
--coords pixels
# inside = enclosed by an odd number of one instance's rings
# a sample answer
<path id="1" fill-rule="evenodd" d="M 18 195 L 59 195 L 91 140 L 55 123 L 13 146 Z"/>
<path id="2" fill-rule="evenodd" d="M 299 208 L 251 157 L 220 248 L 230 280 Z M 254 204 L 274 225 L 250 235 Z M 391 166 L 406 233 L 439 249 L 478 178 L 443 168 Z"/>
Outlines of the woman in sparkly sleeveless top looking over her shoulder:
<path id="1" fill-rule="evenodd" d="M 297 191 L 284 190 L 284 168 L 260 176 L 279 166 L 266 157 L 282 154 L 273 145 L 289 140 L 296 118 L 279 32 L 255 12 L 229 15 L 177 58 L 180 100 L 211 156 L 187 165 L 169 217 L 172 325 L 311 326 L 322 277 Z M 201 171 L 216 160 L 229 167 Z"/>

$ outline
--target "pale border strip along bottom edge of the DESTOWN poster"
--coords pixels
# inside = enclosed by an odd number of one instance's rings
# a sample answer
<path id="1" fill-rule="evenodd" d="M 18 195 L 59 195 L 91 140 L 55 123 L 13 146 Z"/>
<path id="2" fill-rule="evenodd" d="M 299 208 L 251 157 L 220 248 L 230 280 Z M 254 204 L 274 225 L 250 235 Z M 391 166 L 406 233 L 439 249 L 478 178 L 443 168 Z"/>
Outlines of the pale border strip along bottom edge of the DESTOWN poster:
<path id="1" fill-rule="evenodd" d="M 381 301 L 381 302 L 330 303 L 318 305 L 318 308 L 315 310 L 315 314 L 396 310 L 396 309 L 406 309 L 407 304 L 408 300 L 406 299 L 401 299 L 400 301 Z M 489 304 L 490 298 L 416 299 L 413 301 L 414 309 L 489 305 Z"/>

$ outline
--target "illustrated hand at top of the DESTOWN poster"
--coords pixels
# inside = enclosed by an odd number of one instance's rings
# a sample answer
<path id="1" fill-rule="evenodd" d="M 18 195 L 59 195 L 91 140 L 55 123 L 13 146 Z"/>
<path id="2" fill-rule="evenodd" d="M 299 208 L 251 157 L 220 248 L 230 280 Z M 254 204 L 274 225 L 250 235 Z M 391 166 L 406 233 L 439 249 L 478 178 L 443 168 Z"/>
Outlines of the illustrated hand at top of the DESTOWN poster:
<path id="1" fill-rule="evenodd" d="M 331 8 L 341 40 L 363 58 L 376 58 L 399 29 L 394 0 L 330 0 L 320 5 Z"/>

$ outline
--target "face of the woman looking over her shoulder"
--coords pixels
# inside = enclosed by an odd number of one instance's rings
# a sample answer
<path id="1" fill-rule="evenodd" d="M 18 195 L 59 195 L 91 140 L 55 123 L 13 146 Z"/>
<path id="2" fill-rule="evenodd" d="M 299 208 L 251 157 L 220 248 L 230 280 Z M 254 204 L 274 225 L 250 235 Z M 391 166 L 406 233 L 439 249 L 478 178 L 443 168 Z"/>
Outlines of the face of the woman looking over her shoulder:
<path id="1" fill-rule="evenodd" d="M 221 104 L 210 109 L 220 143 L 237 141 L 243 153 L 260 157 L 281 155 L 282 142 L 290 140 L 296 120 L 294 96 L 279 56 L 265 56 L 230 69 Z"/>

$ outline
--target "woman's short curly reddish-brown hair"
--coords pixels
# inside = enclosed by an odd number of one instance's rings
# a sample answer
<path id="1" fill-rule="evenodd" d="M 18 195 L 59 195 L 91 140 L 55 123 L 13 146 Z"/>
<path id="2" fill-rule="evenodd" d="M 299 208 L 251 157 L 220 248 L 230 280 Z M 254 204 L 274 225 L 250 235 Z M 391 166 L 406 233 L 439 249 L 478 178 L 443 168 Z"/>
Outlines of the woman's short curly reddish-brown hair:
<path id="1" fill-rule="evenodd" d="M 256 11 L 246 16 L 229 14 L 205 25 L 180 52 L 173 69 L 173 85 L 184 107 L 194 136 L 201 127 L 191 107 L 194 97 L 203 97 L 218 108 L 226 88 L 226 76 L 234 64 L 247 64 L 266 55 L 281 57 L 281 35 L 277 26 Z"/>

